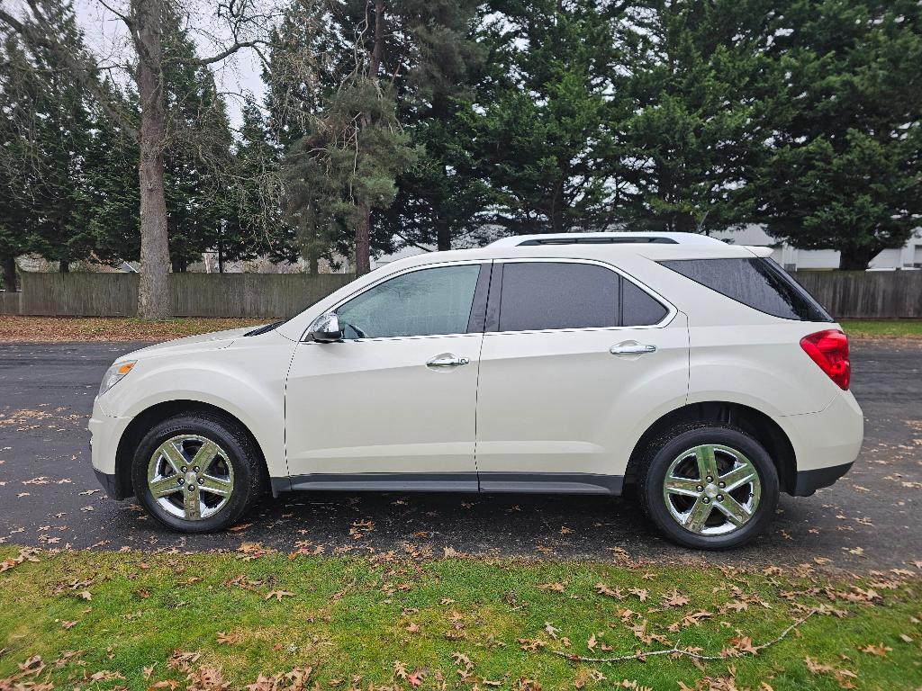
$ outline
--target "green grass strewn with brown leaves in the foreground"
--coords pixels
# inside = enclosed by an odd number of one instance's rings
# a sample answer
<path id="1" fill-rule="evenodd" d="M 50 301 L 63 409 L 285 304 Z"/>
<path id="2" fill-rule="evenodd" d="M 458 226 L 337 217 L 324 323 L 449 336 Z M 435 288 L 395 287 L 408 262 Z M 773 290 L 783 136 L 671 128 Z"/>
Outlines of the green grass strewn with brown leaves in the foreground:
<path id="1" fill-rule="evenodd" d="M 0 561 L 17 554 L 0 548 Z M 83 687 L 106 671 L 124 678 L 102 674 L 91 688 L 140 690 L 158 682 L 185 688 L 189 674 L 198 674 L 198 688 L 218 688 L 201 681 L 203 669 L 219 670 L 231 688 L 242 688 L 260 673 L 305 667 L 312 671 L 304 687 L 343 689 L 409 689 L 420 679 L 423 689 L 612 688 L 624 680 L 660 689 L 679 682 L 707 687 L 705 677 L 732 675 L 740 688 L 765 682 L 775 690 L 837 689 L 839 680 L 888 691 L 922 685 L 922 580 L 908 572 L 837 580 L 809 567 L 741 572 L 700 565 L 246 556 L 254 554 L 40 553 L 37 563 L 0 573 L 0 689 L 13 688 L 9 677 L 34 655 L 45 669 L 19 681 L 47 678 L 58 688 Z M 620 588 L 624 599 L 599 593 L 597 583 Z M 853 587 L 881 597 L 865 602 Z M 644 601 L 630 588 L 646 591 Z M 673 590 L 688 603 L 665 606 Z M 292 594 L 267 599 L 273 591 Z M 737 612 L 729 603 L 746 609 Z M 714 654 L 731 649 L 739 636 L 756 645 L 775 638 L 817 606 L 841 616 L 813 615 L 756 657 L 702 667 L 687 657 L 605 664 L 550 651 L 607 657 L 668 647 L 644 643 L 632 631 L 646 620 L 646 633 Z M 699 611 L 711 615 L 669 630 Z M 221 632 L 230 644 L 219 642 Z M 593 635 L 597 646 L 590 651 Z M 544 646 L 523 650 L 536 640 Z M 885 657 L 859 650 L 881 644 L 892 649 L 882 650 Z M 68 658 L 68 650 L 78 652 Z M 200 657 L 171 664 L 176 650 Z M 808 656 L 827 671 L 811 672 Z M 403 670 L 422 674 L 404 678 Z M 290 685 L 283 679 L 275 688 Z"/>

